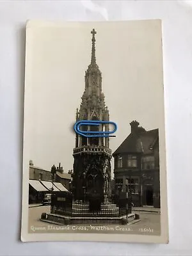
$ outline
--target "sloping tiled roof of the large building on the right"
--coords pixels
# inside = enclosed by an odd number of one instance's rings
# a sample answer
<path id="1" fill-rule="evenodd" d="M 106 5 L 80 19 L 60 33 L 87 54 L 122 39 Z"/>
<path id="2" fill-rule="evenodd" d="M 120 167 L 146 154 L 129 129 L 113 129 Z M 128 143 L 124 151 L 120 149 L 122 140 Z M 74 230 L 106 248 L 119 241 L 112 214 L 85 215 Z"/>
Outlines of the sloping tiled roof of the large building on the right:
<path id="1" fill-rule="evenodd" d="M 122 153 L 150 154 L 158 136 L 158 129 L 143 131 L 140 133 L 131 132 L 131 134 L 129 134 L 123 143 L 115 150 L 113 156 Z"/>

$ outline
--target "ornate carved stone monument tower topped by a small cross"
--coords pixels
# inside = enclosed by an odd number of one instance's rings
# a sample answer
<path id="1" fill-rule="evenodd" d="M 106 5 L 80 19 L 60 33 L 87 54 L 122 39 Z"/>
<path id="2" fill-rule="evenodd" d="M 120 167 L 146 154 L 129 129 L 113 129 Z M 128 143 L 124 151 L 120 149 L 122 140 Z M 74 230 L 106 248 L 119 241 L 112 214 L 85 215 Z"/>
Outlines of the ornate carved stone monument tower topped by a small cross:
<path id="1" fill-rule="evenodd" d="M 76 120 L 109 120 L 109 110 L 104 102 L 102 92 L 102 76 L 96 63 L 95 29 L 92 30 L 91 63 L 85 72 L 85 89 Z M 86 131 L 108 131 L 108 125 L 101 127 L 84 127 Z M 85 130 L 84 130 L 85 131 Z M 86 147 L 86 148 L 84 148 Z M 84 149 L 86 150 L 84 150 Z M 95 148 L 95 150 L 94 150 Z M 105 149 L 106 148 L 106 149 Z M 111 153 L 109 153 L 109 138 L 82 138 L 76 135 L 74 148 L 74 188 L 75 198 L 82 199 L 86 195 L 99 193 L 100 196 L 109 195 L 109 181 L 111 180 Z M 84 179 L 84 181 L 83 181 Z M 83 190 L 86 188 L 86 191 Z M 92 187 L 90 186 L 92 184 Z"/>

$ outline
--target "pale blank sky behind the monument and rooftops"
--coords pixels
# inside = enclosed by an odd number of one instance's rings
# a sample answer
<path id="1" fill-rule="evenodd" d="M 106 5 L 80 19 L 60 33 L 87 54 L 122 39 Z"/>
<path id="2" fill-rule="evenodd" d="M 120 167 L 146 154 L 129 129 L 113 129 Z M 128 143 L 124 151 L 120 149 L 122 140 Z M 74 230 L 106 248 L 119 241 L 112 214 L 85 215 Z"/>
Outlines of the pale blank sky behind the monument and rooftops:
<path id="1" fill-rule="evenodd" d="M 26 115 L 29 159 L 51 170 L 72 169 L 76 108 L 84 92 L 95 28 L 96 60 L 110 120 L 116 122 L 114 152 L 138 120 L 145 129 L 164 128 L 161 22 L 68 22 L 28 24 Z M 112 160 L 113 168 L 113 160 Z M 112 169 L 113 172 L 113 169 Z"/>

